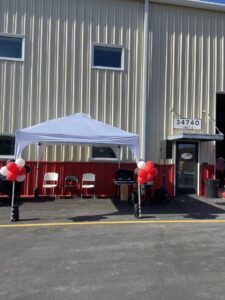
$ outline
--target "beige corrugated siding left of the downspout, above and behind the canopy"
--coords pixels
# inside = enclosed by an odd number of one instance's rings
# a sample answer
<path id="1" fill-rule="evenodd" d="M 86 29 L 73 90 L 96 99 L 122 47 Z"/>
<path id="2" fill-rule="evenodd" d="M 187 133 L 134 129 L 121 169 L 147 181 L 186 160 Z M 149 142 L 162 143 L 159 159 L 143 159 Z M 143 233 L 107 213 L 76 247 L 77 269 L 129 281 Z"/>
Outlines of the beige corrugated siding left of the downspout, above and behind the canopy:
<path id="1" fill-rule="evenodd" d="M 1 0 L 0 32 L 25 36 L 25 61 L 0 61 L 0 132 L 82 111 L 139 133 L 141 1 Z M 93 42 L 123 46 L 125 70 L 91 69 Z M 88 158 L 87 148 L 57 149 L 49 147 L 45 159 Z M 24 157 L 35 159 L 35 150 Z"/>

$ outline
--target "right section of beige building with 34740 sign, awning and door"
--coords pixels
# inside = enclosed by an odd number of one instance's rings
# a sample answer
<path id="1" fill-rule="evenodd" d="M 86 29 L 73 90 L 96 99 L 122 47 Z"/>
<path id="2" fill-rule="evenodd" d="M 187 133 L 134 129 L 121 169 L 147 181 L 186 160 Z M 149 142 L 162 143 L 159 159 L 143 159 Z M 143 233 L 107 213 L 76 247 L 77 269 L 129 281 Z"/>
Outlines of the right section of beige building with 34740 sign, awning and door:
<path id="1" fill-rule="evenodd" d="M 146 151 L 158 161 L 161 147 L 161 158 L 172 159 L 176 190 L 200 193 L 204 167 L 215 165 L 215 141 L 223 140 L 215 119 L 217 94 L 225 91 L 224 24 L 223 5 L 149 6 Z"/>

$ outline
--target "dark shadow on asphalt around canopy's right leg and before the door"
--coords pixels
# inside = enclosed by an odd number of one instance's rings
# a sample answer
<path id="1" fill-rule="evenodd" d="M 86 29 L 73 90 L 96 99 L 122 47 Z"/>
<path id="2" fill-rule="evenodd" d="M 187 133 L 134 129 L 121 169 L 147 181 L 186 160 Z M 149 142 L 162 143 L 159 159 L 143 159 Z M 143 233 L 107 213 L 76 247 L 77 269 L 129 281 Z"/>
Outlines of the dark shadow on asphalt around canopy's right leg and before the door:
<path id="1" fill-rule="evenodd" d="M 116 211 L 112 213 L 82 215 L 69 218 L 74 222 L 107 220 L 110 216 L 134 216 L 134 206 L 129 201 L 121 202 L 111 198 Z M 207 199 L 200 199 L 197 195 L 183 195 L 164 203 L 157 203 L 154 199 L 141 206 L 141 219 L 155 219 L 159 217 L 179 217 L 186 219 L 216 219 L 225 214 L 225 209 L 214 206 L 216 203 L 207 203 Z M 215 199 L 214 199 L 215 200 Z M 210 201 L 210 200 L 209 200 Z"/>

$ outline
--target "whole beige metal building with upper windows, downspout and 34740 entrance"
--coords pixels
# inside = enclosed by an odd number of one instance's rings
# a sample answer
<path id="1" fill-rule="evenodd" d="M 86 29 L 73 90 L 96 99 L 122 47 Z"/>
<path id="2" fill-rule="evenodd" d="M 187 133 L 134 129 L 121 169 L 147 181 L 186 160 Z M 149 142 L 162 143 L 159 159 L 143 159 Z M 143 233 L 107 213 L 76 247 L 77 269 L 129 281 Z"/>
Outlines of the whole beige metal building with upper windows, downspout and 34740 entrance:
<path id="1" fill-rule="evenodd" d="M 224 25 L 224 5 L 191 0 L 0 0 L 1 157 L 15 130 L 85 112 L 140 134 L 142 157 L 172 170 L 174 193 L 202 193 L 223 140 Z M 91 154 L 51 146 L 44 159 Z"/>

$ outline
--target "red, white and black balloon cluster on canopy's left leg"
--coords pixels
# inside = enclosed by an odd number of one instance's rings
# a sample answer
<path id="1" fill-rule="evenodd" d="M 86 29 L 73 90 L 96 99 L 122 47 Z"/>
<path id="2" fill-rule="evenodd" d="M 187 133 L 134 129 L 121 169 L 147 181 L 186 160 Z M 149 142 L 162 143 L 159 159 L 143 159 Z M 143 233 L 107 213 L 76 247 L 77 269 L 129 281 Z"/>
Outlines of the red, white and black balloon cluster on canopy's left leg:
<path id="1" fill-rule="evenodd" d="M 18 158 L 15 162 L 7 163 L 6 166 L 0 169 L 0 173 L 9 181 L 24 181 L 27 173 L 25 160 L 23 158 Z"/>

